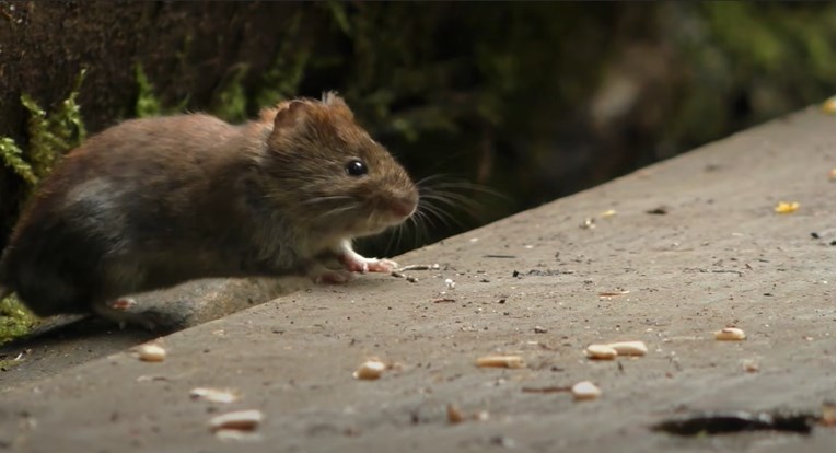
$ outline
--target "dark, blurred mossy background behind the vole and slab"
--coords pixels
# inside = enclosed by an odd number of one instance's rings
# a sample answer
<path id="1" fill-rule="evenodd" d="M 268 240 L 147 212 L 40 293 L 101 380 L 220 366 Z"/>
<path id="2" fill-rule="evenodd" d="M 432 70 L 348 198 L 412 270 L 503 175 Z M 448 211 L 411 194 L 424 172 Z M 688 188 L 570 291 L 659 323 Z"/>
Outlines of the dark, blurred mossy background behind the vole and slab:
<path id="1" fill-rule="evenodd" d="M 337 90 L 417 179 L 488 189 L 371 245 L 395 254 L 834 95 L 835 4 L 0 2 L 0 136 L 23 159 L 21 96 L 49 115 L 82 69 L 88 133 Z M 0 169 L 0 245 L 27 193 Z"/>

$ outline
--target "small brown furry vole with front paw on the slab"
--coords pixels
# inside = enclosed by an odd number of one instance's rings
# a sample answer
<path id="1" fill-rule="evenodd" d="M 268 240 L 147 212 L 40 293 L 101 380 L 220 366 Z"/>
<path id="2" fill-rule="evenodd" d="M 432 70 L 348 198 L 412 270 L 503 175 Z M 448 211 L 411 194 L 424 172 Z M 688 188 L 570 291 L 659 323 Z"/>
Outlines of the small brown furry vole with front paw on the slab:
<path id="1" fill-rule="evenodd" d="M 388 272 L 354 237 L 409 218 L 418 189 L 334 93 L 241 126 L 135 119 L 70 152 L 22 213 L 0 284 L 38 315 L 148 324 L 111 303 L 197 278 Z M 325 263 L 337 259 L 344 269 Z"/>

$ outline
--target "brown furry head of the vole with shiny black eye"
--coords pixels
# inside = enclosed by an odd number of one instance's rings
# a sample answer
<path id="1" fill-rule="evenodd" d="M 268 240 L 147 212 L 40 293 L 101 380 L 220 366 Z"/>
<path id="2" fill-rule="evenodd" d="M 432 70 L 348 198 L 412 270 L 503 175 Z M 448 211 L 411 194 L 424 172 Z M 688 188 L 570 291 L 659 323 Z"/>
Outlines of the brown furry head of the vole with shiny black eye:
<path id="1" fill-rule="evenodd" d="M 416 185 L 336 94 L 284 102 L 261 119 L 272 123 L 259 159 L 268 196 L 305 225 L 356 237 L 415 212 Z"/>

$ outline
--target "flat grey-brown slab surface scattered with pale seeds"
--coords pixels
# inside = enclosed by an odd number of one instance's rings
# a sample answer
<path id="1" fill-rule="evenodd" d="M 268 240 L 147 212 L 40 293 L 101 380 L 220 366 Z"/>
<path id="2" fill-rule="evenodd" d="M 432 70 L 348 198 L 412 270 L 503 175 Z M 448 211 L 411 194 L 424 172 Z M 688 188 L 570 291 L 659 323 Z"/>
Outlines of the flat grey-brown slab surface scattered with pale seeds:
<path id="1" fill-rule="evenodd" d="M 835 119 L 811 108 L 399 257 L 441 266 L 409 272 L 416 283 L 361 276 L 286 295 L 160 338 L 162 363 L 121 350 L 46 378 L 22 364 L 0 373 L 0 451 L 834 451 L 833 427 L 648 429 L 834 400 L 834 166 Z M 777 214 L 779 201 L 800 208 Z M 595 228 L 580 228 L 589 218 Z M 747 339 L 716 341 L 728 325 Z M 650 351 L 584 358 L 620 339 Z M 491 353 L 526 367 L 474 365 Z M 393 369 L 352 379 L 371 357 Z M 524 392 L 584 380 L 601 398 Z M 207 386 L 241 399 L 189 398 Z M 450 404 L 488 419 L 451 423 Z M 251 408 L 265 417 L 255 435 L 210 432 L 214 415 Z"/>

